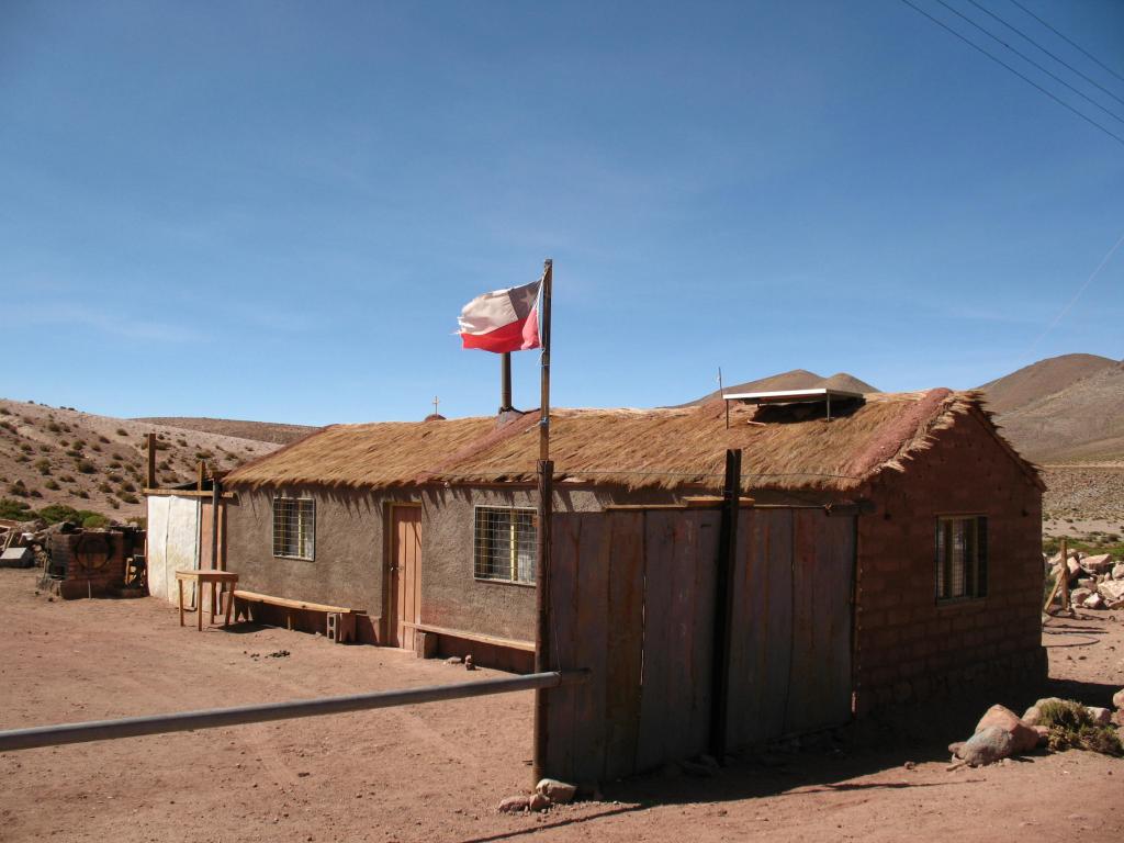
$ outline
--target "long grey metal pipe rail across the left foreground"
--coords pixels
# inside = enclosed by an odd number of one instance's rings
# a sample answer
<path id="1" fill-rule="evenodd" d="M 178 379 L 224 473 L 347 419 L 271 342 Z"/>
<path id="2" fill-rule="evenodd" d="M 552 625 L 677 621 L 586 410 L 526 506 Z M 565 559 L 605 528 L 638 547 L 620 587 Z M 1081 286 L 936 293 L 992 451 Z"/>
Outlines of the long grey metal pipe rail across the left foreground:
<path id="1" fill-rule="evenodd" d="M 167 732 L 191 732 L 199 728 L 219 728 L 294 717 L 319 717 L 326 714 L 365 711 L 373 708 L 441 703 L 469 697 L 487 697 L 493 694 L 578 685 L 588 678 L 589 671 L 584 670 L 551 671 L 531 673 L 525 677 L 482 679 L 477 682 L 457 682 L 455 685 L 429 685 L 423 688 L 352 694 L 344 697 L 297 699 L 288 703 L 264 703 L 234 708 L 208 708 L 179 714 L 124 717 L 116 720 L 88 720 L 85 723 L 63 723 L 55 726 L 13 728 L 0 732 L 0 752 L 31 750 L 37 746 L 60 746 L 67 743 L 109 741 L 118 737 L 158 735 Z"/>

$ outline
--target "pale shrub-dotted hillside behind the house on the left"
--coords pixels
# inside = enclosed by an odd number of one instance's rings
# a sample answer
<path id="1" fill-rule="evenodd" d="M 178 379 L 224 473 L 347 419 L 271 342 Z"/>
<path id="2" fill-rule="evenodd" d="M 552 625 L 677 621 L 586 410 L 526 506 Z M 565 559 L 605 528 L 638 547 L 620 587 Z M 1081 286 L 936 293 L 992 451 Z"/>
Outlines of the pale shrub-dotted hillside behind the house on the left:
<path id="1" fill-rule="evenodd" d="M 74 409 L 0 399 L 0 517 L 62 504 L 112 519 L 144 515 L 145 436 L 157 436 L 162 486 L 193 480 L 200 460 L 219 469 L 279 447 L 272 442 L 190 430 Z"/>

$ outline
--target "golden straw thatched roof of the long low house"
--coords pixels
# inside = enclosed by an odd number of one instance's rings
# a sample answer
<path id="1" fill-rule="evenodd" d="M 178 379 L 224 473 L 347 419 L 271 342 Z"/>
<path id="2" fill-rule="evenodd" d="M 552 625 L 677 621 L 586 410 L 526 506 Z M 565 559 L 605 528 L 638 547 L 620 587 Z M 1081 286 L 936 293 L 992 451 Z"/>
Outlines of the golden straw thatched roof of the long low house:
<path id="1" fill-rule="evenodd" d="M 1027 472 L 976 392 L 946 389 L 876 393 L 845 415 L 823 407 L 732 405 L 676 409 L 559 409 L 551 416 L 551 459 L 561 481 L 629 489 L 722 484 L 725 450 L 743 450 L 750 489 L 854 489 L 912 455 L 958 418 L 975 416 Z M 502 427 L 491 417 L 334 425 L 247 463 L 228 488 L 320 486 L 392 488 L 422 483 L 532 482 L 538 414 Z"/>

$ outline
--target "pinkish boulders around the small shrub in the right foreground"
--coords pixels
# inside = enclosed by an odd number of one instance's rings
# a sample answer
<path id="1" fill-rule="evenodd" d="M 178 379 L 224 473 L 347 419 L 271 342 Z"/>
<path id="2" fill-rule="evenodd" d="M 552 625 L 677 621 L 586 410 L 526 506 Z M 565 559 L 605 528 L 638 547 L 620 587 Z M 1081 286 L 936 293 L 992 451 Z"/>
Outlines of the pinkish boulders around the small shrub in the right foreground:
<path id="1" fill-rule="evenodd" d="M 952 753 L 949 769 L 994 764 L 1046 746 L 1050 729 L 1041 725 L 1042 707 L 1061 701 L 1057 697 L 1040 699 L 1022 717 L 1004 706 L 991 706 L 976 724 L 976 733 L 971 737 L 949 745 Z M 1096 706 L 1086 706 L 1085 710 L 1094 725 L 1124 728 L 1124 689 L 1113 696 L 1113 706 L 1115 711 Z"/>

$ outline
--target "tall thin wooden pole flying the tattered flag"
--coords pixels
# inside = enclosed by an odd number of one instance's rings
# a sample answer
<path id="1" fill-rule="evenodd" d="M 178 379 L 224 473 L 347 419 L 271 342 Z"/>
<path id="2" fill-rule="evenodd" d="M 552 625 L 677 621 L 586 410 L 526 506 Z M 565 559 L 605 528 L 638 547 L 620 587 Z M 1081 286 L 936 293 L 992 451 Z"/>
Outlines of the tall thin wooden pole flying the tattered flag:
<path id="1" fill-rule="evenodd" d="M 538 531 L 535 559 L 535 670 L 550 663 L 551 651 L 551 508 L 553 498 L 554 463 L 551 462 L 551 283 L 554 262 L 543 264 L 542 301 L 542 401 L 538 418 Z M 547 774 L 546 746 L 550 740 L 546 722 L 550 697 L 545 689 L 535 691 L 534 758 L 532 777 L 535 782 Z M 534 782 L 533 782 L 534 783 Z"/>

